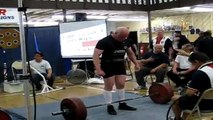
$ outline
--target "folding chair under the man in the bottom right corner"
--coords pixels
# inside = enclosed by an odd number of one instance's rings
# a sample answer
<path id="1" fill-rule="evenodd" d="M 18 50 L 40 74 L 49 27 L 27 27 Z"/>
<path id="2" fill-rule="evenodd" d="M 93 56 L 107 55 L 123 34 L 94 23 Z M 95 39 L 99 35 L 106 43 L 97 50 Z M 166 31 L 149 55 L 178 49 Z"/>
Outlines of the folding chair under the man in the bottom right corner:
<path id="1" fill-rule="evenodd" d="M 209 114 L 213 115 L 213 110 L 200 110 L 199 103 L 201 100 L 213 100 L 213 88 L 207 89 L 204 91 L 204 93 L 201 95 L 200 99 L 195 104 L 194 108 L 192 110 L 184 110 L 184 113 L 189 114 L 186 118 L 186 120 L 190 120 L 190 117 L 194 115 L 195 113 L 198 114 L 199 120 L 202 120 L 203 116 L 208 116 Z"/>

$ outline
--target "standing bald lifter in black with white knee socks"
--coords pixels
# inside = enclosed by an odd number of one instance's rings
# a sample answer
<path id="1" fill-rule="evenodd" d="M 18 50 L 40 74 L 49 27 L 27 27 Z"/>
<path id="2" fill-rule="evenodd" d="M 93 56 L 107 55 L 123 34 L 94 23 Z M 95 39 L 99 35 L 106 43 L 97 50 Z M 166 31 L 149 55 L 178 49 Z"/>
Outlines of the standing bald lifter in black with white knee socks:
<path id="1" fill-rule="evenodd" d="M 126 69 L 124 55 L 127 52 L 129 59 L 135 64 L 136 70 L 140 69 L 136 61 L 136 57 L 124 40 L 128 37 L 129 31 L 127 27 L 119 27 L 117 30 L 100 41 L 98 41 L 94 54 L 93 63 L 96 73 L 104 78 L 104 98 L 107 105 L 107 112 L 116 115 L 112 103 L 112 89 L 115 84 L 119 100 L 125 99 L 124 86 L 126 81 Z M 101 56 L 102 55 L 102 56 Z M 101 60 L 99 57 L 101 56 Z M 136 110 L 134 107 L 128 106 L 125 102 L 120 102 L 118 108 L 120 110 Z"/>

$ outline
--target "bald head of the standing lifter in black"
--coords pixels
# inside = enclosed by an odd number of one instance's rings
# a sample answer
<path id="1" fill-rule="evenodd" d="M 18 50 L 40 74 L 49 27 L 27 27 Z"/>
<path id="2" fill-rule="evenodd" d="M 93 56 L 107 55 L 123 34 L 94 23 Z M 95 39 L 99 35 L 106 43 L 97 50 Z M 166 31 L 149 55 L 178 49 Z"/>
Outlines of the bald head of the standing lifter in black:
<path id="1" fill-rule="evenodd" d="M 118 27 L 113 34 L 113 38 L 118 41 L 124 41 L 129 36 L 129 30 L 127 27 Z"/>

